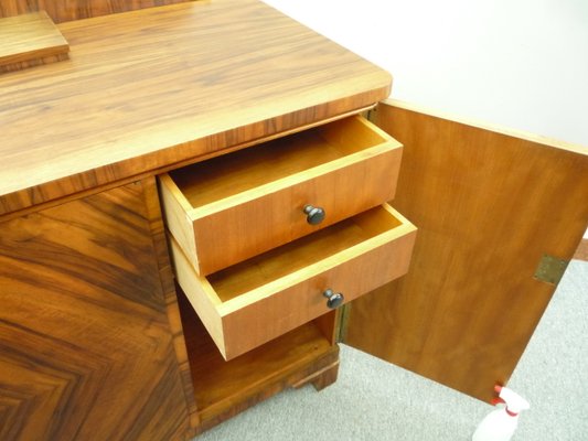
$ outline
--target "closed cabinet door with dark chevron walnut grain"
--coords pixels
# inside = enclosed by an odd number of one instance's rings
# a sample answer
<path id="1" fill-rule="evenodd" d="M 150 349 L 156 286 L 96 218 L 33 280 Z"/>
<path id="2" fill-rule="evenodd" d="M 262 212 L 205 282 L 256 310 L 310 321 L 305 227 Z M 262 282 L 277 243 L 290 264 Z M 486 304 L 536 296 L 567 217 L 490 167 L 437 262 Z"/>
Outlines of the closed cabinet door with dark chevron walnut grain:
<path id="1" fill-rule="evenodd" d="M 132 184 L 0 224 L 0 439 L 191 434 L 152 222 Z"/>

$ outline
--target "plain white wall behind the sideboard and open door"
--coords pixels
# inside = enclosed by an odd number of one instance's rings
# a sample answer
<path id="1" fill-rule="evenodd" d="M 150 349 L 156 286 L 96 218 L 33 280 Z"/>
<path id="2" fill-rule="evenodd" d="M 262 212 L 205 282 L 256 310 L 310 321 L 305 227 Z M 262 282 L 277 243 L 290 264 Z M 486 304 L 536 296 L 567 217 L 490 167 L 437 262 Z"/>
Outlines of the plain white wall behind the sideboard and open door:
<path id="1" fill-rule="evenodd" d="M 392 96 L 588 147 L 587 0 L 265 0 L 394 75 Z"/>

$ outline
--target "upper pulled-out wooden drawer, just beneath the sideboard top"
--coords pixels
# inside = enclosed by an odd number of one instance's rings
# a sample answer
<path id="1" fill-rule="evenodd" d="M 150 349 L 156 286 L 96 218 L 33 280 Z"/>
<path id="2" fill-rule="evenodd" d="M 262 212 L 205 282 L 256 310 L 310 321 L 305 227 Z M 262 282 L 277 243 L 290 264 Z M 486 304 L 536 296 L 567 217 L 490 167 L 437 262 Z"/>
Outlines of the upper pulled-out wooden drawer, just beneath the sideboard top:
<path id="1" fill-rule="evenodd" d="M 391 201 L 402 146 L 354 116 L 160 176 L 167 225 L 209 275 Z M 324 211 L 311 225 L 304 207 Z"/>

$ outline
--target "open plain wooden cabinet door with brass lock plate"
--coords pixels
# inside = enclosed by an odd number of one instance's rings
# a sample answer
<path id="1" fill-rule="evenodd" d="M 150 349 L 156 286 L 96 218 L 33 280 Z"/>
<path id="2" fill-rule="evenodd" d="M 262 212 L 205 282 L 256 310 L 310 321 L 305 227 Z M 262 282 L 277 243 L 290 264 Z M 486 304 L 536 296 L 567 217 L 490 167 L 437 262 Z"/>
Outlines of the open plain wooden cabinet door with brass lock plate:
<path id="1" fill-rule="evenodd" d="M 344 343 L 490 400 L 586 230 L 588 150 L 397 101 L 373 119 L 405 146 L 392 205 L 418 233 L 409 272 L 353 302 Z"/>

